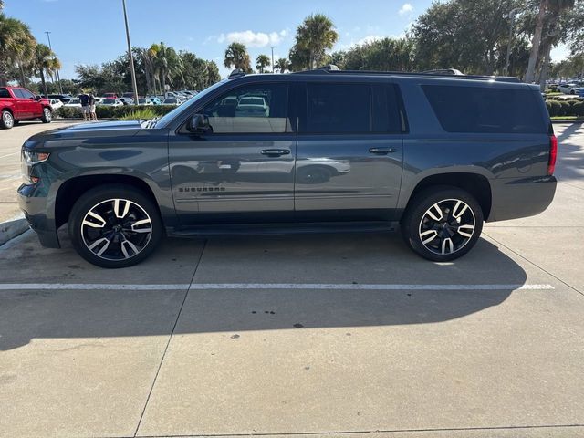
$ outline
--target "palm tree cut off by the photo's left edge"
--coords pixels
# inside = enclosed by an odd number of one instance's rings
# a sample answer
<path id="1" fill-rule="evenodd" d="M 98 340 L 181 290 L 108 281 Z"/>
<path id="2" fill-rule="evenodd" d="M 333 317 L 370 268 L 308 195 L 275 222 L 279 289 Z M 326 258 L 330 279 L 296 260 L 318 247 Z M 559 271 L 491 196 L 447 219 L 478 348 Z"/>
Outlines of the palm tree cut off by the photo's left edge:
<path id="1" fill-rule="evenodd" d="M 8 68 L 30 55 L 35 38 L 22 21 L 0 13 L 0 86 L 8 81 Z"/>

